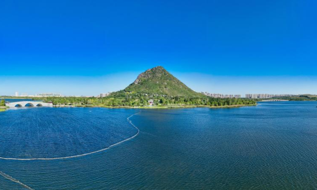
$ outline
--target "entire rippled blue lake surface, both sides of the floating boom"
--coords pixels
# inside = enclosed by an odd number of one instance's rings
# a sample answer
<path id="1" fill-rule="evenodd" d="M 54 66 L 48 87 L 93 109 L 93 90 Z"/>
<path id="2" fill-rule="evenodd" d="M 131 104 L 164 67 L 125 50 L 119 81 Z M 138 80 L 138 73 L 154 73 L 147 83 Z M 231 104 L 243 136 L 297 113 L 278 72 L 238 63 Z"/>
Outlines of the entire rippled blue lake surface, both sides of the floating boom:
<path id="1" fill-rule="evenodd" d="M 317 189 L 317 102 L 0 112 L 6 174 L 36 190 Z M 7 176 L 7 178 L 9 178 Z M 0 175 L 0 189 L 27 187 Z"/>

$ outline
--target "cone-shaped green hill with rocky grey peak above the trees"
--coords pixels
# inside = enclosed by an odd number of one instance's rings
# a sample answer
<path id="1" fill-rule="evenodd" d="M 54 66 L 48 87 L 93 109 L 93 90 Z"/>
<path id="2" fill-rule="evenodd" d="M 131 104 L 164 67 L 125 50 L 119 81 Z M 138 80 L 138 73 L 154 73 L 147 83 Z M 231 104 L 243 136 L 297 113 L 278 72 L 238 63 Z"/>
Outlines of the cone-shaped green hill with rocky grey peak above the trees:
<path id="1" fill-rule="evenodd" d="M 188 88 L 184 83 L 167 72 L 162 66 L 148 69 L 124 89 L 125 92 L 159 94 L 182 97 L 204 97 L 201 93 Z"/>

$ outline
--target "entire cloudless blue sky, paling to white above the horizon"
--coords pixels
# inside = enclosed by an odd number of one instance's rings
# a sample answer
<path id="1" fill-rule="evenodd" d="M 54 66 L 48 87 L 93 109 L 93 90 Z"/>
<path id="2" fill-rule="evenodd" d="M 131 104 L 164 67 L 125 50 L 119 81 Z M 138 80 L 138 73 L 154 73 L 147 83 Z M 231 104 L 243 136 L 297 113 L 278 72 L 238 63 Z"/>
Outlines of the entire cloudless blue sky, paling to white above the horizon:
<path id="1" fill-rule="evenodd" d="M 317 94 L 317 1 L 0 1 L 0 95 L 98 95 L 164 66 L 195 91 Z"/>

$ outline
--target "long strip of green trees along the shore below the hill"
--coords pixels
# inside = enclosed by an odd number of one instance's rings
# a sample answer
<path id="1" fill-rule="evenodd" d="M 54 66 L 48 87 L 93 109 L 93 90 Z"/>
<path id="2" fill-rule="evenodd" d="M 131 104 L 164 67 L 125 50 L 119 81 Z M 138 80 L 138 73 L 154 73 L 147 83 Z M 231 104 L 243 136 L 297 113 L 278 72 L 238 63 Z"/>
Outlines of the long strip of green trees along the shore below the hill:
<path id="1" fill-rule="evenodd" d="M 9 98 L 9 97 L 7 97 Z M 15 98 L 15 97 L 10 97 Z M 24 97 L 27 98 L 27 97 Z M 256 105 L 256 101 L 247 98 L 211 98 L 211 97 L 180 97 L 166 95 L 140 95 L 125 93 L 110 95 L 104 98 L 96 97 L 32 97 L 33 100 L 52 102 L 54 106 L 89 106 L 89 107 L 145 107 L 145 108 L 172 108 L 172 107 L 236 107 Z M 148 101 L 153 101 L 149 106 Z"/>

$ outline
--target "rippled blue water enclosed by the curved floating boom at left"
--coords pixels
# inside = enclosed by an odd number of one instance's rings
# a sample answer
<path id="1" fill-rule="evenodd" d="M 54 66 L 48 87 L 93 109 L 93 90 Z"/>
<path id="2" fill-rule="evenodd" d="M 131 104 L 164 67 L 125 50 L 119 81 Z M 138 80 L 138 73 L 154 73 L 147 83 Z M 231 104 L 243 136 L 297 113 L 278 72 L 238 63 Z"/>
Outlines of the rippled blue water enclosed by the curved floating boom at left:
<path id="1" fill-rule="evenodd" d="M 109 147 L 136 133 L 126 121 L 131 113 L 100 108 L 6 111 L 0 123 L 0 157 L 55 158 Z"/>

